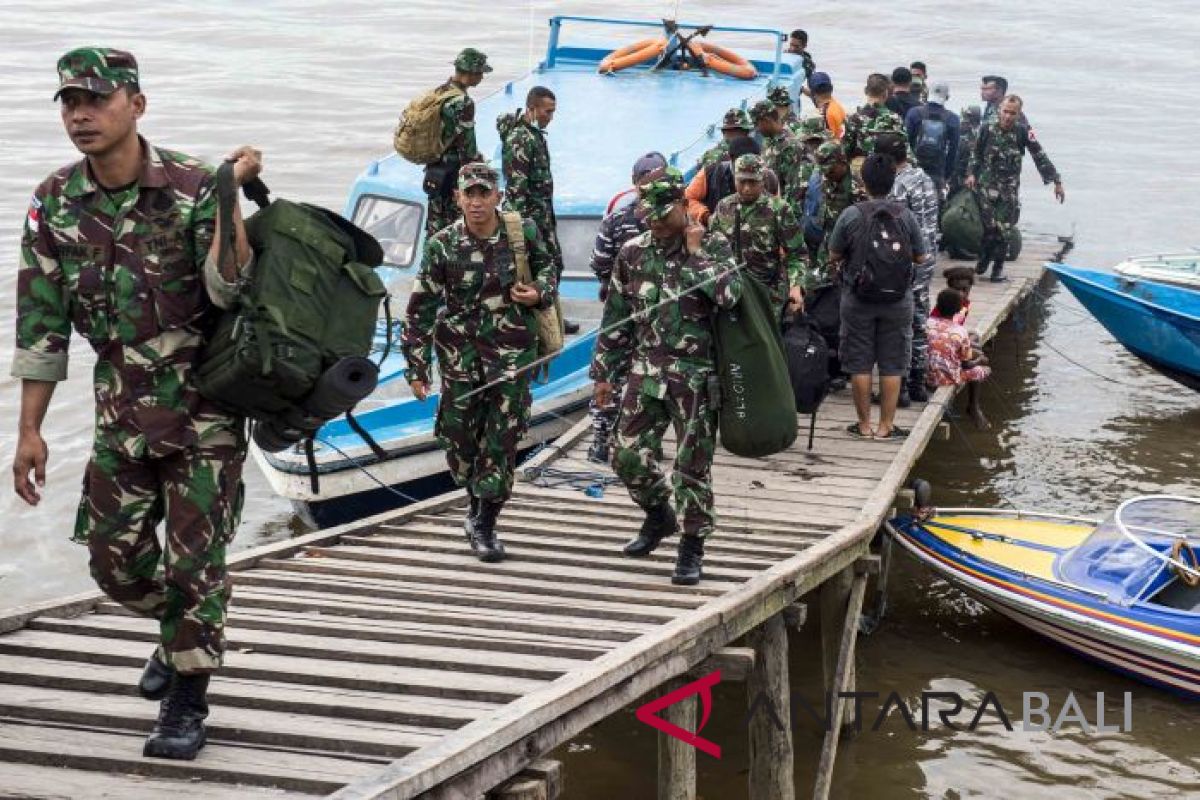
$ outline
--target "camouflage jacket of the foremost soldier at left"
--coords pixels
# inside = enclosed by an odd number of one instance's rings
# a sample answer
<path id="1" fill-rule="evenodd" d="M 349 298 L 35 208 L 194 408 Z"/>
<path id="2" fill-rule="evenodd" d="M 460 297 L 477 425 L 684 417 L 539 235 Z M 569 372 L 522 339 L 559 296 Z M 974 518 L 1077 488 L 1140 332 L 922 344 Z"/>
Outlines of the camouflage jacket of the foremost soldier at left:
<path id="1" fill-rule="evenodd" d="M 12 375 L 64 380 L 72 327 L 96 351 L 97 444 L 158 457 L 236 425 L 192 380 L 215 313 L 204 261 L 216 216 L 202 162 L 142 140 L 134 186 L 106 192 L 86 160 L 34 193 L 17 273 Z"/>

